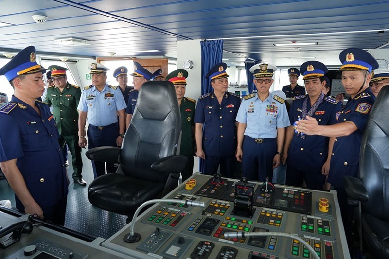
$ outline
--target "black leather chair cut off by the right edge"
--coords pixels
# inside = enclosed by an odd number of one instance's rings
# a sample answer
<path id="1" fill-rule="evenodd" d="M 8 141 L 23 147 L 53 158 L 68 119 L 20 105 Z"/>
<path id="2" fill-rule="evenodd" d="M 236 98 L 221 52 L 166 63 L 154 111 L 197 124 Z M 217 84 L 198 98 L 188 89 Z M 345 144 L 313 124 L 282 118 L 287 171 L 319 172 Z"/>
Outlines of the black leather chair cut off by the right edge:
<path id="1" fill-rule="evenodd" d="M 372 107 L 362 136 L 359 179 L 345 177 L 350 201 L 360 201 L 362 238 L 373 258 L 389 258 L 389 86 Z"/>

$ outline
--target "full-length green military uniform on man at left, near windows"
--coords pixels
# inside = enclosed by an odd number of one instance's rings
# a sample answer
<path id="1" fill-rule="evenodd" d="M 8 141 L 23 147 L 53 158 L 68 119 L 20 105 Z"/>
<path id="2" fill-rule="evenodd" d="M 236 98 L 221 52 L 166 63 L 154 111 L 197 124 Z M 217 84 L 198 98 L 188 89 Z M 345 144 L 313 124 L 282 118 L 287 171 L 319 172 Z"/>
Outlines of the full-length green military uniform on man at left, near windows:
<path id="1" fill-rule="evenodd" d="M 50 67 L 49 67 L 50 69 Z M 81 148 L 78 146 L 78 111 L 81 89 L 67 82 L 62 92 L 55 86 L 47 89 L 45 102 L 53 105 L 53 116 L 61 134 L 71 152 L 74 173 L 73 180 L 82 179 Z"/>

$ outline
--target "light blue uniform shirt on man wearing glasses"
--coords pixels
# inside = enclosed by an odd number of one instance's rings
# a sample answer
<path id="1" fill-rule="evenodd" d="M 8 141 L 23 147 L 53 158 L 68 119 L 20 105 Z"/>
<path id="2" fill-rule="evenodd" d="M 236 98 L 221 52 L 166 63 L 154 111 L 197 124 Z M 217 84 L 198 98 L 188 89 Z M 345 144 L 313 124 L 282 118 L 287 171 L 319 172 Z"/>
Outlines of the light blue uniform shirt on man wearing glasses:
<path id="1" fill-rule="evenodd" d="M 251 138 L 276 138 L 277 128 L 290 126 L 286 105 L 277 99 L 283 100 L 270 93 L 263 102 L 257 94 L 242 100 L 236 121 L 246 123 L 244 135 Z"/>

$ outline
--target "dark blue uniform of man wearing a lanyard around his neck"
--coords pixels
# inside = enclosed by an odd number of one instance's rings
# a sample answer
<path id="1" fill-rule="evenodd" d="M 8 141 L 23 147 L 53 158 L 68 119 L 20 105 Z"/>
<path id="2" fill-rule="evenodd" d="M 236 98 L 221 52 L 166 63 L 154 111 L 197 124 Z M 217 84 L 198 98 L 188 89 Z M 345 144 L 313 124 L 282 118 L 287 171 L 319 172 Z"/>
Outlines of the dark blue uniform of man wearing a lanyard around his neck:
<path id="1" fill-rule="evenodd" d="M 306 99 L 306 110 L 309 111 L 311 102 L 308 95 L 294 98 L 289 110 L 289 120 L 292 125 L 302 119 L 303 104 Z M 319 125 L 332 125 L 337 122 L 336 113 L 341 109 L 339 101 L 325 97 L 311 117 L 315 118 Z M 301 186 L 305 179 L 309 189 L 323 189 L 325 176 L 321 174 L 321 168 L 328 157 L 328 141 L 329 138 L 324 136 L 302 135 L 301 138 L 300 134 L 294 133 L 288 150 L 286 185 Z"/>

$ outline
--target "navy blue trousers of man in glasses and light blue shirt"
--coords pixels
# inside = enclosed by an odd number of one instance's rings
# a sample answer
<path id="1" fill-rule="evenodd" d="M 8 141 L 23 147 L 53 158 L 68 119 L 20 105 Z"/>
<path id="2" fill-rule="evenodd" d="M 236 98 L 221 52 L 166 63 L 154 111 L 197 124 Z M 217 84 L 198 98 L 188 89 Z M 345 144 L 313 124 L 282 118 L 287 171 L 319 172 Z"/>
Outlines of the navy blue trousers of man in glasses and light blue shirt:
<path id="1" fill-rule="evenodd" d="M 273 179 L 273 158 L 277 153 L 276 138 L 263 138 L 262 143 L 245 135 L 243 140 L 243 176 L 249 180 Z"/>

